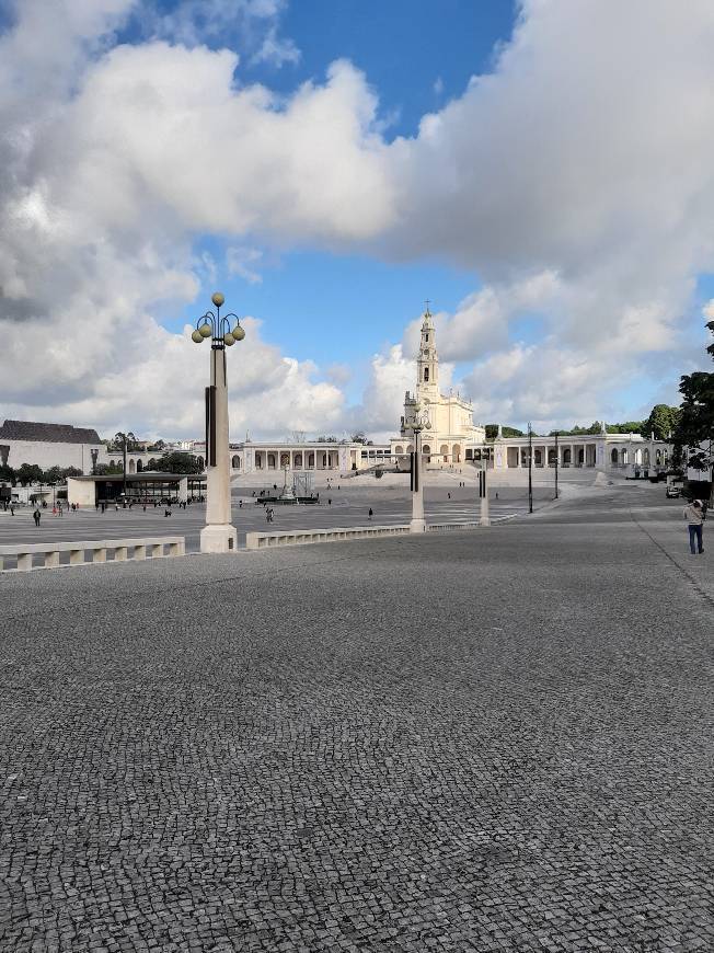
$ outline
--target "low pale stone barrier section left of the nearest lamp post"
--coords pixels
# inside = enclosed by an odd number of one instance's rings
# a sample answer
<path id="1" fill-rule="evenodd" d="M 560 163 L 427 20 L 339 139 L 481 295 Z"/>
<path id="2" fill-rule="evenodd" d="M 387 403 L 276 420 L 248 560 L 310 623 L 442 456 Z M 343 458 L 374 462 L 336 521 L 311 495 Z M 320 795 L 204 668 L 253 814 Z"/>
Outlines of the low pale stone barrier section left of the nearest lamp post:
<path id="1" fill-rule="evenodd" d="M 169 551 L 166 552 L 166 547 Z M 133 556 L 129 555 L 129 550 L 133 551 Z M 13 543 L 11 546 L 0 546 L 0 572 L 12 572 L 4 569 L 4 561 L 8 556 L 14 558 L 18 561 L 18 572 L 28 572 L 33 569 L 54 570 L 60 565 L 60 553 L 69 553 L 69 564 L 72 566 L 81 566 L 87 560 L 87 552 L 92 553 L 90 562 L 105 563 L 107 552 L 114 553 L 114 562 L 126 562 L 134 558 L 135 560 L 145 560 L 147 554 L 151 559 L 160 559 L 161 556 L 177 556 L 185 555 L 186 542 L 183 536 L 156 536 L 143 537 L 141 539 L 91 539 L 80 542 L 35 542 L 35 543 Z M 44 562 L 39 566 L 34 565 L 34 558 L 39 554 L 44 556 Z"/>

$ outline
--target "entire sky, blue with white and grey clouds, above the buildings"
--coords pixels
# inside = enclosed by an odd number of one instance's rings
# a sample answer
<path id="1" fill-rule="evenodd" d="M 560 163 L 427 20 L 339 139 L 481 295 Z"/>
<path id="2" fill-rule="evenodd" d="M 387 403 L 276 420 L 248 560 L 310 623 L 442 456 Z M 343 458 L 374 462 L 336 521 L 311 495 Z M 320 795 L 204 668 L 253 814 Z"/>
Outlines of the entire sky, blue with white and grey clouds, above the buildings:
<path id="1" fill-rule="evenodd" d="M 0 0 L 0 418 L 393 435 L 442 390 L 537 432 L 707 367 L 710 0 Z"/>

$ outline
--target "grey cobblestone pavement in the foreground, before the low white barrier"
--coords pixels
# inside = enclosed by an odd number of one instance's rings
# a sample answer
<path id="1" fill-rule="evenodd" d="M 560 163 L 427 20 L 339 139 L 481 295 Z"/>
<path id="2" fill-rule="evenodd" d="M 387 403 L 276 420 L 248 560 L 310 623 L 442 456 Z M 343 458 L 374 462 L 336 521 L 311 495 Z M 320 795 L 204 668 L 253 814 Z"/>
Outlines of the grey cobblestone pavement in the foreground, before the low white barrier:
<path id="1" fill-rule="evenodd" d="M 714 949 L 682 542 L 619 489 L 0 577 L 0 949 Z"/>

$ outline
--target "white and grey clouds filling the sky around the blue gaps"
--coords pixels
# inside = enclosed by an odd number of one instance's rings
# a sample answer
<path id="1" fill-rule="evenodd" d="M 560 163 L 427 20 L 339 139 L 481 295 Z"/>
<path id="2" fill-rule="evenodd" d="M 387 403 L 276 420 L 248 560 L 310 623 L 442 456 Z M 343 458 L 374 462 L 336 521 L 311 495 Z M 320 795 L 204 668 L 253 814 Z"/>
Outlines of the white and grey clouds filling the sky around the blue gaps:
<path id="1" fill-rule="evenodd" d="M 614 377 L 648 367 L 676 378 L 694 359 L 684 319 L 714 257 L 709 0 L 686 11 L 670 0 L 525 0 L 493 72 L 394 141 L 352 64 L 277 96 L 241 84 L 234 51 L 201 45 L 232 11 L 241 30 L 261 24 L 253 56 L 265 47 L 290 60 L 283 7 L 184 0 L 149 20 L 146 42 L 117 46 L 127 18 L 159 8 L 16 5 L 0 37 L 9 410 L 134 424 L 149 387 L 166 415 L 157 427 L 188 426 L 194 378 L 183 342 L 154 313 L 198 294 L 214 266 L 197 265 L 192 248 L 205 233 L 228 239 L 247 280 L 258 276 L 255 244 L 438 256 L 472 269 L 480 289 L 436 318 L 442 357 L 471 365 L 463 389 L 482 418 L 598 415 Z M 532 314 L 544 329 L 536 344 L 515 332 Z M 260 326 L 254 334 L 257 347 Z M 275 368 L 256 364 L 235 413 L 242 423 L 255 399 L 266 430 L 313 429 L 313 411 L 323 414 L 314 428 L 342 420 L 392 429 L 413 386 L 414 334 L 373 359 L 362 406 L 352 409 L 337 378 L 325 383 L 260 345 Z M 149 340 L 162 367 L 181 369 L 183 393 L 147 356 Z M 160 392 L 147 383 L 153 374 Z M 133 404 L 126 388 L 115 393 L 122 380 L 141 394 Z"/>

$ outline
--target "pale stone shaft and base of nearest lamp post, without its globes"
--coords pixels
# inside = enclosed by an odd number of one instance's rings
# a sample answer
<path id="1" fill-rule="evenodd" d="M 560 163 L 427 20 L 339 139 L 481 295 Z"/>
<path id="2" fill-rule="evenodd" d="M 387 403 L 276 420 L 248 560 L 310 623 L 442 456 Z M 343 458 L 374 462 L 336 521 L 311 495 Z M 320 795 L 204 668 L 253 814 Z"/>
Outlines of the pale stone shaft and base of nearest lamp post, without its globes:
<path id="1" fill-rule="evenodd" d="M 228 552 L 238 549 L 238 532 L 231 525 L 231 481 L 228 447 L 228 388 L 226 386 L 226 352 L 210 349 L 210 383 L 215 391 L 215 448 L 206 447 L 206 526 L 200 531 L 201 552 Z M 211 450 L 215 464 L 210 466 Z"/>

